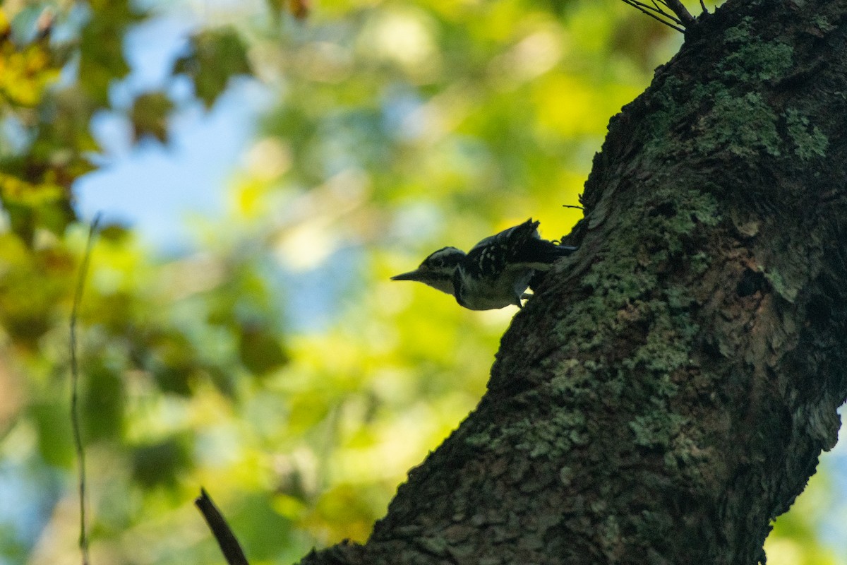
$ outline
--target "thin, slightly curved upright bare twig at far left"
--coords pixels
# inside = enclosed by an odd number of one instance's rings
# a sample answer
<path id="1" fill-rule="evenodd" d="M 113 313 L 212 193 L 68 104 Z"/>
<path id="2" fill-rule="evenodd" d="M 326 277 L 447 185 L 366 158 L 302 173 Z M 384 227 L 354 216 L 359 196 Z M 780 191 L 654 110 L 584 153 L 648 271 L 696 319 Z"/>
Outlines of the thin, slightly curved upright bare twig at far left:
<path id="1" fill-rule="evenodd" d="M 79 382 L 80 368 L 76 360 L 76 314 L 80 309 L 82 291 L 86 285 L 86 274 L 88 263 L 91 261 L 91 248 L 94 246 L 97 224 L 100 224 L 100 214 L 94 217 L 91 228 L 88 230 L 88 241 L 86 252 L 82 256 L 80 275 L 76 281 L 74 292 L 74 305 L 70 309 L 70 425 L 74 432 L 74 447 L 76 450 L 76 466 L 79 474 L 80 491 L 80 552 L 82 553 L 82 565 L 88 565 L 88 534 L 86 533 L 86 450 L 82 446 L 82 433 L 80 432 L 80 410 L 79 410 Z"/>

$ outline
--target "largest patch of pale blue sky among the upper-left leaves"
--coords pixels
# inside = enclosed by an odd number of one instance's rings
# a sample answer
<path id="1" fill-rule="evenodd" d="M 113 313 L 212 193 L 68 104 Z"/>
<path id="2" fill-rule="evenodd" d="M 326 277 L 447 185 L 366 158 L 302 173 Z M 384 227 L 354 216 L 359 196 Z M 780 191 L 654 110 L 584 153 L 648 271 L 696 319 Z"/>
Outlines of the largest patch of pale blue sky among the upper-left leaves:
<path id="1" fill-rule="evenodd" d="M 169 79 L 174 60 L 187 47 L 191 22 L 161 17 L 136 26 L 126 38 L 132 72 L 113 85 L 117 108 L 128 108 L 141 92 L 164 89 L 177 103 L 171 118 L 172 138 L 131 143 L 131 126 L 122 114 L 97 114 L 91 129 L 104 149 L 96 162 L 102 169 L 75 185 L 77 210 L 91 219 L 118 220 L 136 228 L 143 241 L 161 251 L 190 246 L 185 219 L 214 218 L 224 210 L 228 180 L 252 139 L 257 115 L 268 90 L 257 80 L 236 78 L 214 107 L 206 111 L 191 95 L 185 77 Z"/>

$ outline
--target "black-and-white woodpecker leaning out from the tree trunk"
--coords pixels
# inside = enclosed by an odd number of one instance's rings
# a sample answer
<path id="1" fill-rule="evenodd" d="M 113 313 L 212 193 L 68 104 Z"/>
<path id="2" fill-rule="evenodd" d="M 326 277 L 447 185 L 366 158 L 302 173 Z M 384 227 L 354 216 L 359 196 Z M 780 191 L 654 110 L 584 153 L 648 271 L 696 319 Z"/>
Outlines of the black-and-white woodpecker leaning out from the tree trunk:
<path id="1" fill-rule="evenodd" d="M 521 307 L 533 277 L 577 249 L 541 239 L 538 224 L 530 218 L 486 237 L 467 254 L 456 247 L 442 247 L 418 269 L 391 280 L 417 280 L 455 296 L 456 302 L 471 310 Z"/>

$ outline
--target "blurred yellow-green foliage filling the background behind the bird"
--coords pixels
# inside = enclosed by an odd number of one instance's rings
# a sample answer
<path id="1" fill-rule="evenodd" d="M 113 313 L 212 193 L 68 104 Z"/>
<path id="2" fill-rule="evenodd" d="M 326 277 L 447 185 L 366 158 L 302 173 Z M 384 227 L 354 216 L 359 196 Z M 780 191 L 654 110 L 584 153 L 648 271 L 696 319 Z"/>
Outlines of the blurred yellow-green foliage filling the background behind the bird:
<path id="1" fill-rule="evenodd" d="M 115 103 L 127 31 L 162 17 L 193 22 L 168 84 Z M 529 216 L 567 233 L 609 117 L 679 41 L 612 1 L 3 3 L 0 563 L 78 558 L 73 190 L 98 112 L 167 143 L 185 78 L 204 108 L 234 75 L 275 101 L 197 249 L 161 258 L 117 224 L 97 241 L 79 340 L 92 560 L 219 562 L 191 507 L 204 485 L 252 562 L 285 563 L 368 536 L 479 400 L 513 313 L 390 274 Z M 835 562 L 813 513 L 780 521 L 776 555 Z"/>

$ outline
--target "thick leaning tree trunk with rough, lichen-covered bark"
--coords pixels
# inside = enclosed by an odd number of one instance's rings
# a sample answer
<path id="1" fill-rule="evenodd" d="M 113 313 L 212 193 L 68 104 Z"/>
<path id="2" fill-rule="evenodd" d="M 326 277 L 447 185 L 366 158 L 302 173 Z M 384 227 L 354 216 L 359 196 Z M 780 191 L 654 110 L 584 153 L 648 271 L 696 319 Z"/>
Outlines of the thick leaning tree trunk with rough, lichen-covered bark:
<path id="1" fill-rule="evenodd" d="M 847 0 L 701 19 L 612 119 L 479 407 L 365 545 L 303 563 L 763 560 L 847 396 L 845 141 Z"/>

